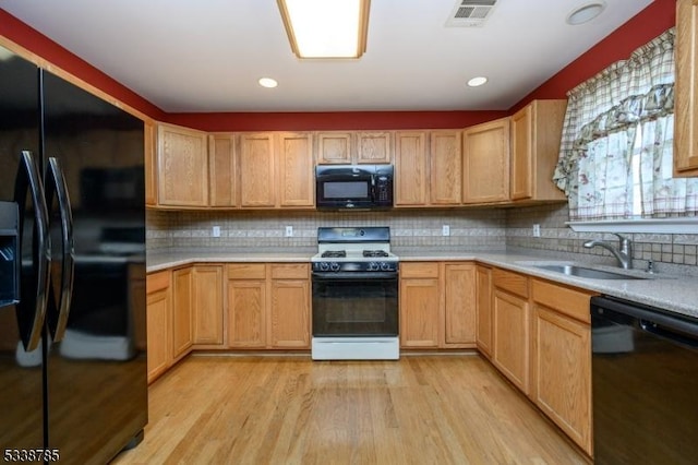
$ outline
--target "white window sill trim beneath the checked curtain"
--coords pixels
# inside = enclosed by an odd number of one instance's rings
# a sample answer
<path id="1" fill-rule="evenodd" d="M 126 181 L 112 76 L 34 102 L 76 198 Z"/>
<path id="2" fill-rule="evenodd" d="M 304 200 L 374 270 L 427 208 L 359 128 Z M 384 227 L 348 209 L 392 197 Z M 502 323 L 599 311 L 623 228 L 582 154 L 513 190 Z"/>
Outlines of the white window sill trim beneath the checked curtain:
<path id="1" fill-rule="evenodd" d="M 566 222 L 575 233 L 698 234 L 698 218 L 604 219 Z"/>

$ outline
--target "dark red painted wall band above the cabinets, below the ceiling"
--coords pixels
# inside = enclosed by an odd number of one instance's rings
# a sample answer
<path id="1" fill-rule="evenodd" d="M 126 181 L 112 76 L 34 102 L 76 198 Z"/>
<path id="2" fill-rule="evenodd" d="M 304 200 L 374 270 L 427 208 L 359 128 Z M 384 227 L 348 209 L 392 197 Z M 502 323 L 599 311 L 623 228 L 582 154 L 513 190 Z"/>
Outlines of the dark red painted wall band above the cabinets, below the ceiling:
<path id="1" fill-rule="evenodd" d="M 0 35 L 139 111 L 206 131 L 467 128 L 506 116 L 534 98 L 565 98 L 570 88 L 676 24 L 676 0 L 654 0 L 606 38 L 527 95 L 509 111 L 346 111 L 166 114 L 151 102 L 0 9 Z"/>

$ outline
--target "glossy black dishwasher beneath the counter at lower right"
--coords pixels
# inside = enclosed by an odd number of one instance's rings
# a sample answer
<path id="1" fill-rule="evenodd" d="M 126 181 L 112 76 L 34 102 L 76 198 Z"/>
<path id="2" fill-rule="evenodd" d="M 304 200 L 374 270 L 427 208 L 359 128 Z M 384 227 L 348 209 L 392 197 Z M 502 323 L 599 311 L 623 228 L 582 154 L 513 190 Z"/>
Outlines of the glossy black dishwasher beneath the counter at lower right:
<path id="1" fill-rule="evenodd" d="M 698 319 L 591 299 L 595 464 L 698 460 Z"/>

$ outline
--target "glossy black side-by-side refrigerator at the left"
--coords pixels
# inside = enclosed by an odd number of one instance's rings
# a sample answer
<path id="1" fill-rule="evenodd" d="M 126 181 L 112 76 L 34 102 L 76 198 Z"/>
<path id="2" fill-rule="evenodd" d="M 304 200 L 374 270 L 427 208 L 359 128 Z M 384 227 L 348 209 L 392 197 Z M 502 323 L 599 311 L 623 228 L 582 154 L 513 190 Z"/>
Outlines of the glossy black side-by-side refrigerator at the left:
<path id="1" fill-rule="evenodd" d="M 143 121 L 0 47 L 0 453 L 105 464 L 147 422 Z"/>

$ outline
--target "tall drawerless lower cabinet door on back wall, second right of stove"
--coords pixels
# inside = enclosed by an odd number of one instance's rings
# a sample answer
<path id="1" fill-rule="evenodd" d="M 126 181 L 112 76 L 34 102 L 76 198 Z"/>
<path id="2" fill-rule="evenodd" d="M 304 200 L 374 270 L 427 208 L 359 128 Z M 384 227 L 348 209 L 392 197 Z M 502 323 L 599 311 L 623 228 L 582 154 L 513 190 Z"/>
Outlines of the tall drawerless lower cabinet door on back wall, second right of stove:
<path id="1" fill-rule="evenodd" d="M 476 266 L 444 265 L 444 346 L 472 346 L 476 343 Z"/>

